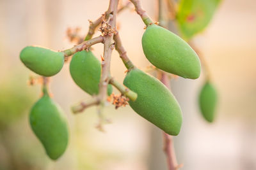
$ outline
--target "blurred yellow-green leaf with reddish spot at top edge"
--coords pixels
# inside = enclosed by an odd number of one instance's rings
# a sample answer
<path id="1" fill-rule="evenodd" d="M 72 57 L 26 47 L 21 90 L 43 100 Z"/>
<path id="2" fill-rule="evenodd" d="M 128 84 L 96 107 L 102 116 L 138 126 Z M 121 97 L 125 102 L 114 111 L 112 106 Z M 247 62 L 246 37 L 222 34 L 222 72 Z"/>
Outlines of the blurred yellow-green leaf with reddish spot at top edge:
<path id="1" fill-rule="evenodd" d="M 191 39 L 204 31 L 220 4 L 220 0 L 181 0 L 177 20 L 182 37 Z"/>

